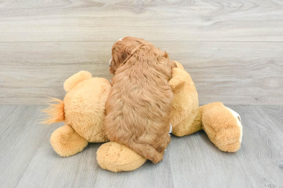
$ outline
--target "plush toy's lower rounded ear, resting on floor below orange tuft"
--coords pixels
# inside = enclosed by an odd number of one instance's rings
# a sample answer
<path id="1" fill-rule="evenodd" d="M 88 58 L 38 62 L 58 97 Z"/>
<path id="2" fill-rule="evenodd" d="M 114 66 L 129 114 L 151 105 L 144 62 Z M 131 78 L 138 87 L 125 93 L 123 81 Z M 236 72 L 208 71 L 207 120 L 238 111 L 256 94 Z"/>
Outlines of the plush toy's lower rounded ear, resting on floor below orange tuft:
<path id="1" fill-rule="evenodd" d="M 50 143 L 60 156 L 69 157 L 81 152 L 88 141 L 76 133 L 72 127 L 65 125 L 51 134 Z"/>

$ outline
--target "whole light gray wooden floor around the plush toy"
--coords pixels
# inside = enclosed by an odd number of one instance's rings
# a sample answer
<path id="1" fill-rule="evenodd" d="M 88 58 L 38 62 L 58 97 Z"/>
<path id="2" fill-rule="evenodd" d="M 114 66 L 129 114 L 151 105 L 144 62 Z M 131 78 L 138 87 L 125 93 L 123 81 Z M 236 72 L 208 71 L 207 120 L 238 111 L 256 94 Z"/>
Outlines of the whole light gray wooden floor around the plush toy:
<path id="1" fill-rule="evenodd" d="M 219 151 L 204 131 L 176 137 L 158 164 L 113 173 L 96 161 L 101 143 L 59 157 L 36 124 L 43 106 L 0 106 L 0 187 L 283 187 L 283 106 L 228 106 L 243 124 L 239 151 Z"/>

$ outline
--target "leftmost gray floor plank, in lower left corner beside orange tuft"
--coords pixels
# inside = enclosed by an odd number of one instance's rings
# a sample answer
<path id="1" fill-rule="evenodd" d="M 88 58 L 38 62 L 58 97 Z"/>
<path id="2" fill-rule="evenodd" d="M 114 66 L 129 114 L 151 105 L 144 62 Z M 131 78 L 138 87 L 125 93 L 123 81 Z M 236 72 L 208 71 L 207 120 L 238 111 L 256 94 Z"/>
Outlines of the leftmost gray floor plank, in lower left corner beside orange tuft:
<path id="1" fill-rule="evenodd" d="M 0 187 L 15 187 L 49 130 L 40 106 L 0 106 Z"/>

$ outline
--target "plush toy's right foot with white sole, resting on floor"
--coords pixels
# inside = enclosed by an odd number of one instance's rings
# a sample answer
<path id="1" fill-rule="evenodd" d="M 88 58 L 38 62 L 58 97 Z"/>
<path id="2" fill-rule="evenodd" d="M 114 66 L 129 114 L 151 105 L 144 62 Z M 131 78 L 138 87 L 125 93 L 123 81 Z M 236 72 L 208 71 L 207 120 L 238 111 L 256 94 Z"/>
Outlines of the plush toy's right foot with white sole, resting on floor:
<path id="1" fill-rule="evenodd" d="M 241 147 L 243 135 L 239 114 L 226 108 L 221 102 L 202 107 L 202 128 L 211 142 L 222 151 L 237 151 Z"/>

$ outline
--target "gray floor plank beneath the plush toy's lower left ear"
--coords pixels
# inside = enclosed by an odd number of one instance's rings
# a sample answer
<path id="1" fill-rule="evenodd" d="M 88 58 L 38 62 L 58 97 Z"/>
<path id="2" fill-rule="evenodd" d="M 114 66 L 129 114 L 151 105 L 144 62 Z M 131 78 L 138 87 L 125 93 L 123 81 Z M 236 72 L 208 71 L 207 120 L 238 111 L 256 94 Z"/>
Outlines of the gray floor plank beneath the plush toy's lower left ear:
<path id="1" fill-rule="evenodd" d="M 76 155 L 60 157 L 49 140 L 51 133 L 63 125 L 51 126 L 16 187 L 94 187 L 100 168 L 96 151 L 101 143 L 89 143 Z"/>

